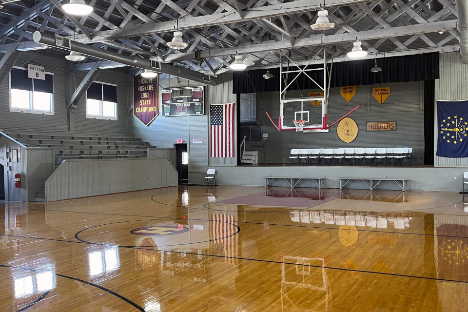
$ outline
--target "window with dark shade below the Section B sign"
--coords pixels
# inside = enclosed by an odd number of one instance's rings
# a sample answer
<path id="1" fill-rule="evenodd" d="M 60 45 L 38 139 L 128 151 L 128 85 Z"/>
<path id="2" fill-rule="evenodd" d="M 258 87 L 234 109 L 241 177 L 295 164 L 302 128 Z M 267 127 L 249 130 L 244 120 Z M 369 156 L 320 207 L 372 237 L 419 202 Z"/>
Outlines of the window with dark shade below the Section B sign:
<path id="1" fill-rule="evenodd" d="M 45 79 L 28 77 L 28 70 L 13 67 L 10 71 L 10 111 L 54 115 L 54 74 Z"/>

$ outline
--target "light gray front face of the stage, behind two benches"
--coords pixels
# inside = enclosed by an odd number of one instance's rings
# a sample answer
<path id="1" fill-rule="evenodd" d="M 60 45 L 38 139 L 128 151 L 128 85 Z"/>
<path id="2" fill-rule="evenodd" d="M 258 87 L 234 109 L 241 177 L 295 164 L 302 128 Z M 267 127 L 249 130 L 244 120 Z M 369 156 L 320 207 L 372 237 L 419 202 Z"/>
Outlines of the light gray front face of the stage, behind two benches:
<path id="1" fill-rule="evenodd" d="M 463 173 L 467 168 L 434 167 L 326 167 L 291 165 L 209 166 L 216 169 L 219 185 L 264 186 L 265 176 L 323 177 L 323 188 L 339 189 L 340 178 L 395 178 L 407 179 L 407 190 L 461 192 Z M 285 181 L 275 181 L 273 186 L 289 187 Z M 301 181 L 297 187 L 316 187 L 312 181 Z M 350 181 L 346 188 L 366 189 L 362 181 Z M 393 181 L 380 183 L 377 189 L 399 190 Z M 468 188 L 467 188 L 468 189 Z"/>

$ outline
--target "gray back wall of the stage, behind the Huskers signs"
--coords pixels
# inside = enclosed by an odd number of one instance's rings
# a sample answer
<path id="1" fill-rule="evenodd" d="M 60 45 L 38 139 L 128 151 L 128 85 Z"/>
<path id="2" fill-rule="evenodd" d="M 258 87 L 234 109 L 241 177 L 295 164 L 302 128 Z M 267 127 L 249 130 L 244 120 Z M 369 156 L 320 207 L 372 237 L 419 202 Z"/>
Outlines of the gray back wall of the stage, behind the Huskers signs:
<path id="1" fill-rule="evenodd" d="M 390 87 L 390 96 L 379 104 L 372 96 L 372 88 Z M 257 120 L 263 124 L 263 133 L 268 133 L 267 163 L 287 163 L 292 148 L 347 148 L 347 147 L 412 147 L 414 163 L 424 163 L 424 115 L 423 84 L 421 82 L 386 83 L 383 85 L 357 86 L 357 92 L 350 102 L 341 96 L 339 88 L 332 88 L 328 99 L 328 123 L 343 117 L 356 105 L 361 105 L 349 117 L 359 127 L 358 136 L 351 143 L 344 143 L 336 134 L 336 125 L 328 133 L 279 132 L 265 114 L 260 100 L 277 124 L 279 115 L 279 92 L 257 94 Z M 302 94 L 307 97 L 308 92 Z M 318 90 L 313 90 L 318 91 Z M 298 91 L 289 91 L 288 98 L 300 98 Z M 312 107 L 312 105 L 311 105 Z M 312 109 L 312 113 L 313 113 Z M 321 116 L 320 108 L 316 108 Z M 369 121 L 396 121 L 396 131 L 366 131 Z M 260 142 L 251 142 L 249 145 Z M 248 145 L 248 146 L 249 146 Z M 252 149 L 252 148 L 249 148 Z M 263 157 L 261 157 L 262 162 Z"/>

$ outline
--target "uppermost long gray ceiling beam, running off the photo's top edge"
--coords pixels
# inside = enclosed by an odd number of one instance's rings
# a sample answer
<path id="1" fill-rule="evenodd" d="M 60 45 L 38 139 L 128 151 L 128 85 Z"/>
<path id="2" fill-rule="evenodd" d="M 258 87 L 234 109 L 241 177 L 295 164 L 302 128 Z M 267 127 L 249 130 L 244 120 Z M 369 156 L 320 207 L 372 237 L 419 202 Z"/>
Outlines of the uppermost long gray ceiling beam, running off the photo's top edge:
<path id="1" fill-rule="evenodd" d="M 319 10 L 321 7 L 336 7 L 370 1 L 373 0 L 335 0 L 331 4 L 325 3 L 324 6 L 322 0 L 296 0 L 292 2 L 260 6 L 246 10 L 245 12 L 242 12 L 244 17 L 241 20 L 239 20 L 238 14 L 233 14 L 233 12 L 224 12 L 197 16 L 190 19 L 170 20 L 165 22 L 147 22 L 142 25 L 126 27 L 124 29 L 105 30 L 94 34 L 96 37 L 91 41 L 89 41 L 89 39 L 85 38 L 84 36 L 78 36 L 77 41 L 94 42 L 98 41 L 100 38 L 118 39 L 137 37 L 142 35 L 152 35 L 163 32 L 171 32 L 174 31 L 174 29 L 184 30 L 190 28 L 229 24 L 244 20 L 257 20 L 261 18 L 309 12 L 313 10 Z"/>

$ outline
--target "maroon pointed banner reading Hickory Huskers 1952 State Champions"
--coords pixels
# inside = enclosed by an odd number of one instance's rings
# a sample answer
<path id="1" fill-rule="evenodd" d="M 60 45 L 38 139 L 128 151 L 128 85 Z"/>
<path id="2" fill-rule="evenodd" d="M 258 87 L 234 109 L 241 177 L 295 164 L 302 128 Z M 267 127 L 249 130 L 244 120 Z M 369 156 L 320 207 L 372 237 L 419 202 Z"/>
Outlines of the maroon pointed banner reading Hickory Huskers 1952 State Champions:
<path id="1" fill-rule="evenodd" d="M 157 77 L 133 78 L 133 116 L 145 126 L 149 126 L 159 115 L 158 98 Z"/>

